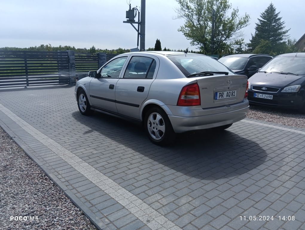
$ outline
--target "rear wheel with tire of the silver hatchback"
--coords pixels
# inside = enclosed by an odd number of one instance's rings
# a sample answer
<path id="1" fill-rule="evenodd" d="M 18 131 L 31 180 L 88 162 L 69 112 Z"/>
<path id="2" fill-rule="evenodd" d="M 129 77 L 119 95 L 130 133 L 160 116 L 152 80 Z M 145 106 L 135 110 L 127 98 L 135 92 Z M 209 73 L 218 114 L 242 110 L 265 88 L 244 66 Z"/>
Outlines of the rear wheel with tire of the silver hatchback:
<path id="1" fill-rule="evenodd" d="M 146 112 L 144 128 L 149 140 L 157 145 L 170 144 L 176 137 L 170 119 L 161 108 L 150 108 Z"/>

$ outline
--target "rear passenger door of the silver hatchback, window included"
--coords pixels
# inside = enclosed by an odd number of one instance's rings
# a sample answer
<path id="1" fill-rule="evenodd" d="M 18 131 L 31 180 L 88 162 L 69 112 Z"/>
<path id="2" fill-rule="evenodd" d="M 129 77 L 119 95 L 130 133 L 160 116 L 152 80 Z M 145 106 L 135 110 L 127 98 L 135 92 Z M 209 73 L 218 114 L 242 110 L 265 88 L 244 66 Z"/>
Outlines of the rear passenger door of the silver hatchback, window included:
<path id="1" fill-rule="evenodd" d="M 139 110 L 147 98 L 150 85 L 156 79 L 159 59 L 153 55 L 131 55 L 124 76 L 116 86 L 118 113 L 140 119 Z"/>

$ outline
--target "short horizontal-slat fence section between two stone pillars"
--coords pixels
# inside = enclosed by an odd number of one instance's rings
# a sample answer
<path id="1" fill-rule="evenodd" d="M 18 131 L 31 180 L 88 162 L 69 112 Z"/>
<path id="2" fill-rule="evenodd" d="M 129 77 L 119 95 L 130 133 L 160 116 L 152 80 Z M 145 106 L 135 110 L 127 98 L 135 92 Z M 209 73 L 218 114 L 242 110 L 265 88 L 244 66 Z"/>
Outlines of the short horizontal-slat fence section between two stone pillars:
<path id="1" fill-rule="evenodd" d="M 99 69 L 99 58 L 92 53 L 74 53 L 75 55 L 75 72 L 85 73 Z"/>

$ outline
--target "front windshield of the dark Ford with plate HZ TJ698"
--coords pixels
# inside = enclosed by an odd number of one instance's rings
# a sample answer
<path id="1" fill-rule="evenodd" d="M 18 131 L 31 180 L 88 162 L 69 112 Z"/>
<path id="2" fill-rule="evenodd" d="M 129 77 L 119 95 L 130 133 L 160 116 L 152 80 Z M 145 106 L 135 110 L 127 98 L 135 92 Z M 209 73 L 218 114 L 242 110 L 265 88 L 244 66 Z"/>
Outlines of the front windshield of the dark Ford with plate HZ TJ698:
<path id="1" fill-rule="evenodd" d="M 305 57 L 275 57 L 260 69 L 262 71 L 305 75 Z"/>

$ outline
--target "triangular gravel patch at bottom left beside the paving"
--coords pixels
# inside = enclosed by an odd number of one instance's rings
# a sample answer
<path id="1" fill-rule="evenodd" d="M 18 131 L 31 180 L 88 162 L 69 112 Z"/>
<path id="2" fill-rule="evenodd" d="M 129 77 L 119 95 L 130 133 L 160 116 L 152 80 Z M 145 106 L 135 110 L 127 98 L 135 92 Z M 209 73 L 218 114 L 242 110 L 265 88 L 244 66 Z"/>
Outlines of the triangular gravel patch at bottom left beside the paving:
<path id="1" fill-rule="evenodd" d="M 1 127 L 0 229 L 96 229 Z"/>

